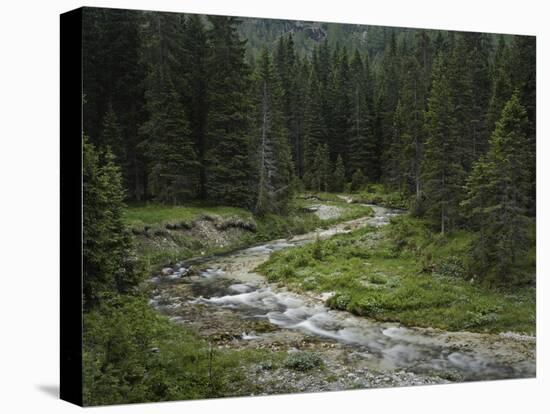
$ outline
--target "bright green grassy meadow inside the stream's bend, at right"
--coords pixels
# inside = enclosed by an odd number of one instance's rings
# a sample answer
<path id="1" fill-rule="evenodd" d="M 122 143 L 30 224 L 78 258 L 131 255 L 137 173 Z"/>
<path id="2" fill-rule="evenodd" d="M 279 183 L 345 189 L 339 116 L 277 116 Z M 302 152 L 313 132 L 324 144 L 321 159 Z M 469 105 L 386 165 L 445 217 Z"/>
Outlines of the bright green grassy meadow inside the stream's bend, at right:
<path id="1" fill-rule="evenodd" d="M 381 321 L 534 334 L 534 288 L 472 281 L 464 263 L 470 240 L 466 232 L 432 235 L 423 222 L 404 217 L 385 229 L 274 253 L 257 270 L 294 290 L 335 292 L 330 307 Z"/>

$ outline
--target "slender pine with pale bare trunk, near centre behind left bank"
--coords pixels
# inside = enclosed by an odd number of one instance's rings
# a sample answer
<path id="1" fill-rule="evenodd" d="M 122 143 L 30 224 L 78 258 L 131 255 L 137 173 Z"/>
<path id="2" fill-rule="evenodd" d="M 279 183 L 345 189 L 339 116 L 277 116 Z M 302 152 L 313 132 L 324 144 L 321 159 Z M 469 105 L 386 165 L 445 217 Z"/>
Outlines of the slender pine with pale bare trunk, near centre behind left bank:
<path id="1" fill-rule="evenodd" d="M 282 213 L 286 211 L 291 195 L 292 159 L 288 145 L 288 131 L 281 113 L 282 99 L 279 82 L 264 49 L 255 74 L 258 129 L 257 164 L 258 192 L 254 211 Z"/>

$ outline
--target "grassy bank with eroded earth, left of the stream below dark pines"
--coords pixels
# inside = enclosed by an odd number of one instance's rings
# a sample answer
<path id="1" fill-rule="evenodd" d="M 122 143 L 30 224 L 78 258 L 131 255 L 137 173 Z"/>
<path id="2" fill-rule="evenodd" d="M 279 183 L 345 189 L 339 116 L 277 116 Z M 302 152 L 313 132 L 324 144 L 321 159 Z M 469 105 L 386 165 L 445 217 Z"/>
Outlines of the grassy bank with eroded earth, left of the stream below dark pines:
<path id="1" fill-rule="evenodd" d="M 292 237 L 316 228 L 352 220 L 372 214 L 369 207 L 347 204 L 334 194 L 322 194 L 323 204 L 337 206 L 342 215 L 330 220 L 321 220 L 304 207 L 317 204 L 303 197 L 296 197 L 286 215 L 268 214 L 254 217 L 251 212 L 234 207 L 209 206 L 193 203 L 185 206 L 162 204 L 134 204 L 128 206 L 124 220 L 135 235 L 138 256 L 151 270 L 169 263 L 202 255 L 213 255 L 261 243 L 273 239 Z M 328 200 L 331 201 L 328 201 Z M 253 230 L 233 234 L 223 247 L 201 240 L 186 231 L 201 217 L 217 220 L 241 219 L 253 226 Z M 181 231 L 180 231 L 181 230 Z"/>

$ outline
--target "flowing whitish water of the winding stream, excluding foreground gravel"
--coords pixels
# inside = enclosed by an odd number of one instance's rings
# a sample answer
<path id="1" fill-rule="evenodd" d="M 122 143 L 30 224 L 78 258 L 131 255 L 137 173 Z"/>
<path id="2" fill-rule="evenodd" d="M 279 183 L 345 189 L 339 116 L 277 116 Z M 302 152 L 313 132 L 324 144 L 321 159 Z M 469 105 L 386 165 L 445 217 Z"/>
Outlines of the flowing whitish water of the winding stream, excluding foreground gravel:
<path id="1" fill-rule="evenodd" d="M 230 311 L 242 320 L 264 320 L 283 331 L 315 336 L 341 344 L 348 353 L 377 371 L 407 370 L 457 380 L 526 378 L 535 375 L 534 339 L 518 341 L 510 335 L 445 332 L 380 323 L 347 312 L 328 309 L 321 298 L 299 295 L 266 283 L 253 271 L 277 250 L 328 238 L 366 225 L 383 226 L 396 211 L 372 206 L 374 217 L 332 226 L 328 230 L 276 240 L 261 246 L 200 260 L 200 276 L 156 279 L 157 296 L 151 303 L 159 311 L 182 319 L 178 309 L 206 306 Z M 169 280 L 166 280 L 169 279 Z M 190 284 L 192 297 L 182 299 L 174 290 Z M 328 294 L 327 294 L 328 295 Z M 179 319 L 178 319 L 179 318 Z M 260 344 L 264 335 L 246 332 L 241 340 Z"/>

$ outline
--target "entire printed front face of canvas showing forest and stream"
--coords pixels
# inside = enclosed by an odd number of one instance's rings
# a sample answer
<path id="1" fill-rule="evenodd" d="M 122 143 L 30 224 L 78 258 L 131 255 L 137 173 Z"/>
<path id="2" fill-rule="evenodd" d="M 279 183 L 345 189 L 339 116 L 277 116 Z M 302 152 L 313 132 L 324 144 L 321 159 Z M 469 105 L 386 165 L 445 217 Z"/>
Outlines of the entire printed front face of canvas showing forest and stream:
<path id="1" fill-rule="evenodd" d="M 535 376 L 535 37 L 83 16 L 87 405 Z"/>

